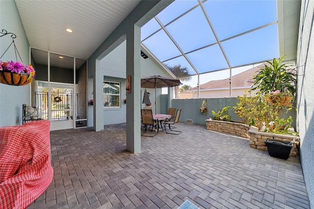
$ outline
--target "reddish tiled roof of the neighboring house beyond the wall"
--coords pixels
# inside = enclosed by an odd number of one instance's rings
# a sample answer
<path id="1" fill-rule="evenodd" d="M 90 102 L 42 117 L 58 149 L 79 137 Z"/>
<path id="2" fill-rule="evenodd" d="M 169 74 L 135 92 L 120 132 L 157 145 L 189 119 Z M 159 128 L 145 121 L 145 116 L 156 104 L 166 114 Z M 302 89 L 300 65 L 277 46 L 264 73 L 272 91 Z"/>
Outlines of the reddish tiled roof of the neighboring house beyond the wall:
<path id="1" fill-rule="evenodd" d="M 263 67 L 264 64 L 258 65 L 254 68 L 251 68 L 247 71 L 244 71 L 242 73 L 239 73 L 235 76 L 233 76 L 232 79 L 232 87 L 247 87 L 252 86 L 254 79 L 253 76 L 257 75 L 257 71 L 260 70 L 261 67 Z M 229 78 L 220 79 L 220 80 L 211 80 L 207 83 L 200 85 L 200 90 L 206 90 L 206 89 L 222 89 L 222 88 L 229 88 Z M 181 92 L 180 94 L 189 94 L 191 91 L 197 90 L 197 86 L 190 88 L 188 90 L 185 90 Z"/>

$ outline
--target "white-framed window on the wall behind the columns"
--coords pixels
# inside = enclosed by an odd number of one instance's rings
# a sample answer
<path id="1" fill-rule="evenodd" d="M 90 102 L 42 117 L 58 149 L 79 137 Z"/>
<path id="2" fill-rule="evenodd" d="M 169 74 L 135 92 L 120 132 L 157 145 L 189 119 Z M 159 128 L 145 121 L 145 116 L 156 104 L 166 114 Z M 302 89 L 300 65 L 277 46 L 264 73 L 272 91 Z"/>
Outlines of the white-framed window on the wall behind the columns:
<path id="1" fill-rule="evenodd" d="M 104 108 L 120 107 L 120 82 L 104 81 Z"/>

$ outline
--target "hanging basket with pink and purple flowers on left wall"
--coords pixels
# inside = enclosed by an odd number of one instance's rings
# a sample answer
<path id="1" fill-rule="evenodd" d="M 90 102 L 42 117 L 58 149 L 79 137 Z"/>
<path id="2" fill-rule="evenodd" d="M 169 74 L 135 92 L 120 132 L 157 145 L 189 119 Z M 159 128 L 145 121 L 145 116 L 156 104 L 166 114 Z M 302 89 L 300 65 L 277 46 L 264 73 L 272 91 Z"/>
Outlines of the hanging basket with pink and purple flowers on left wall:
<path id="1" fill-rule="evenodd" d="M 9 85 L 26 85 L 35 77 L 34 67 L 19 61 L 0 60 L 0 82 Z"/>

